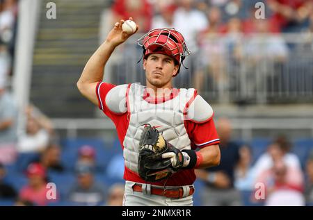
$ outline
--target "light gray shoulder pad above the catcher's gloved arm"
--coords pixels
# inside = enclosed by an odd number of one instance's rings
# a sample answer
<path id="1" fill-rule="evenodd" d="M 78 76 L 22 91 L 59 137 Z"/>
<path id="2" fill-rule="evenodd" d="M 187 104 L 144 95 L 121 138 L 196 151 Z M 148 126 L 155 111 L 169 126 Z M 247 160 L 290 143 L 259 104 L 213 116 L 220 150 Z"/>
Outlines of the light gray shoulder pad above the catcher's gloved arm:
<path id="1" fill-rule="evenodd" d="M 198 94 L 195 89 L 188 89 L 193 92 L 187 108 L 187 119 L 195 123 L 204 123 L 214 116 L 214 110 L 211 105 Z"/>

